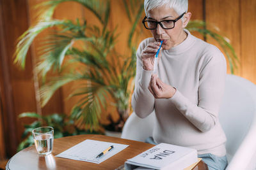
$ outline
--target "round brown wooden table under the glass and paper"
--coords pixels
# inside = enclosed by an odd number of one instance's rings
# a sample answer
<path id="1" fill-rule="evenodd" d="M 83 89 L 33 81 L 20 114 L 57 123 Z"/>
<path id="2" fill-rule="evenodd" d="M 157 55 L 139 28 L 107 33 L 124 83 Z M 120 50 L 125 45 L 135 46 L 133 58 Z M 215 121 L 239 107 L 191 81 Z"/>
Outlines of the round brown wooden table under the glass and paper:
<path id="1" fill-rule="evenodd" d="M 107 141 L 112 143 L 121 143 L 129 145 L 129 147 L 117 153 L 113 157 L 105 160 L 100 164 L 93 164 L 90 162 L 84 162 L 72 159 L 63 159 L 55 157 L 59 153 L 71 148 L 78 143 L 81 143 L 85 139 L 93 139 L 98 141 Z M 54 139 L 54 145 L 52 154 L 45 157 L 39 156 L 36 152 L 35 145 L 29 146 L 28 148 L 16 153 L 6 164 L 7 170 L 37 170 L 37 169 L 61 169 L 61 170 L 72 170 L 72 169 L 116 169 L 124 165 L 125 160 L 131 159 L 139 153 L 148 150 L 154 145 L 149 143 L 143 143 L 139 141 L 132 141 L 128 139 L 114 138 L 110 136 L 102 136 L 95 134 L 86 134 L 79 136 L 68 136 L 65 138 Z M 205 170 L 204 162 L 200 162 L 194 169 Z"/>

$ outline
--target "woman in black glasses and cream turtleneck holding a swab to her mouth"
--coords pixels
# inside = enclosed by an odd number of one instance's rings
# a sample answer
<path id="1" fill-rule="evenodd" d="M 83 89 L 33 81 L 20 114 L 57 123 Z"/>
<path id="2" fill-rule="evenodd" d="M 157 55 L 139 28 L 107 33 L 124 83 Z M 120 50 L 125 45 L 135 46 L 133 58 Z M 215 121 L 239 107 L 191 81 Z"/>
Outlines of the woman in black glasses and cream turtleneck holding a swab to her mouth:
<path id="1" fill-rule="evenodd" d="M 226 137 L 218 120 L 225 57 L 216 46 L 184 29 L 191 17 L 188 0 L 145 0 L 144 6 L 143 24 L 154 38 L 138 47 L 132 108 L 141 118 L 155 110 L 156 143 L 195 148 L 209 169 L 225 169 Z"/>

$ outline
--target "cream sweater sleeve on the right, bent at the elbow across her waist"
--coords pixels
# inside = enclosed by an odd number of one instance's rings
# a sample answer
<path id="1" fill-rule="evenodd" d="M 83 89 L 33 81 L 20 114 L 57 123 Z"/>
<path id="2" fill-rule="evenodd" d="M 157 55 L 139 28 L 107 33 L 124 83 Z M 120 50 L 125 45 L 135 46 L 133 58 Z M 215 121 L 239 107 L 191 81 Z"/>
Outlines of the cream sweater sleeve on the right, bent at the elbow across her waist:
<path id="1" fill-rule="evenodd" d="M 211 130 L 218 121 L 218 111 L 225 89 L 226 60 L 220 50 L 214 50 L 200 70 L 198 104 L 191 103 L 177 89 L 169 100 L 200 131 Z"/>

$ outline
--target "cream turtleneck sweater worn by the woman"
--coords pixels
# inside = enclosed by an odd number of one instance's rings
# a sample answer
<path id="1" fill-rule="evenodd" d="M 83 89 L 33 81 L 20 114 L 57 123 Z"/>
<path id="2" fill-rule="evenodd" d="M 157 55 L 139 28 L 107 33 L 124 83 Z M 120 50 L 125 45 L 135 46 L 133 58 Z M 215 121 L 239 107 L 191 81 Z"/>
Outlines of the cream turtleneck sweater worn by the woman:
<path id="1" fill-rule="evenodd" d="M 187 32 L 179 45 L 163 50 L 159 78 L 177 91 L 170 99 L 155 99 L 148 90 L 153 71 L 143 69 L 141 52 L 154 41 L 147 38 L 137 50 L 136 82 L 132 108 L 138 117 L 156 112 L 153 138 L 198 150 L 198 154 L 226 154 L 226 137 L 218 120 L 225 87 L 226 60 L 216 46 Z"/>

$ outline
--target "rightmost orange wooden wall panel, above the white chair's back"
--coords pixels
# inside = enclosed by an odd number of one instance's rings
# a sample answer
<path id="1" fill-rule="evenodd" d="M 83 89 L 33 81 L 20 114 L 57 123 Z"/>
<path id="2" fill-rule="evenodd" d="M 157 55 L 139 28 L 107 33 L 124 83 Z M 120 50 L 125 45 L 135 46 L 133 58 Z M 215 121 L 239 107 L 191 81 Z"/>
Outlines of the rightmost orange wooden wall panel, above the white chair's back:
<path id="1" fill-rule="evenodd" d="M 256 1 L 241 1 L 241 63 L 243 77 L 256 83 Z"/>

